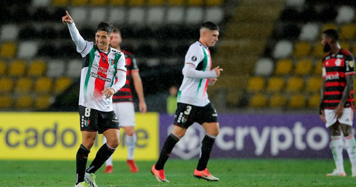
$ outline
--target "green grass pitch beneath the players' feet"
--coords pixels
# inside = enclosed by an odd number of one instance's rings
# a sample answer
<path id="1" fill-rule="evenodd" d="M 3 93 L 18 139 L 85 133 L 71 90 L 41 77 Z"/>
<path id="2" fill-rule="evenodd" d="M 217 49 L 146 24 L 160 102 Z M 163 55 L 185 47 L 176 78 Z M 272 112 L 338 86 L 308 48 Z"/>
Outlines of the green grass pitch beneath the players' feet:
<path id="1" fill-rule="evenodd" d="M 211 159 L 209 171 L 220 178 L 206 182 L 193 177 L 195 160 L 169 159 L 166 177 L 159 183 L 151 174 L 153 161 L 137 162 L 140 171 L 131 173 L 125 162 L 114 162 L 114 173 L 96 172 L 99 187 L 121 186 L 354 186 L 349 160 L 344 160 L 347 177 L 325 177 L 334 168 L 333 160 Z M 0 161 L 0 186 L 74 186 L 74 161 Z M 89 165 L 90 161 L 88 161 Z"/>

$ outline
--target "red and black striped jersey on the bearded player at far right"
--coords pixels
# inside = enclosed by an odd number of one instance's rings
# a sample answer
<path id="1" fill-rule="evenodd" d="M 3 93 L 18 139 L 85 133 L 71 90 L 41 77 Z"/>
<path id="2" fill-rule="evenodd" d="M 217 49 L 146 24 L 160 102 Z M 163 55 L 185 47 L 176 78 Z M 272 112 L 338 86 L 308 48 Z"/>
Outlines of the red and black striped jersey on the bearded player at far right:
<path id="1" fill-rule="evenodd" d="M 335 109 L 342 98 L 347 75 L 355 74 L 355 59 L 352 54 L 341 49 L 337 54 L 327 53 L 323 58 L 323 75 L 325 79 L 324 109 Z M 353 86 L 353 85 L 352 85 Z M 354 106 L 354 91 L 350 92 L 345 108 Z"/>

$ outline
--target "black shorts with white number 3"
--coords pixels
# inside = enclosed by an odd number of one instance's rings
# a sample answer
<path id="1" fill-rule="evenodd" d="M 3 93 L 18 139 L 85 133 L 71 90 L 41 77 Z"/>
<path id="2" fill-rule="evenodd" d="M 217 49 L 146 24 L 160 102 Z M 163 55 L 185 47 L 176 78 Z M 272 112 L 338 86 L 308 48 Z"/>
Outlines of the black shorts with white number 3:
<path id="1" fill-rule="evenodd" d="M 218 114 L 214 106 L 209 103 L 204 107 L 197 107 L 191 104 L 177 103 L 176 114 L 174 115 L 174 125 L 188 129 L 194 122 L 203 123 L 218 122 Z"/>

